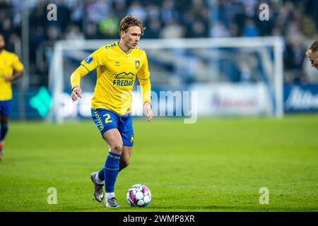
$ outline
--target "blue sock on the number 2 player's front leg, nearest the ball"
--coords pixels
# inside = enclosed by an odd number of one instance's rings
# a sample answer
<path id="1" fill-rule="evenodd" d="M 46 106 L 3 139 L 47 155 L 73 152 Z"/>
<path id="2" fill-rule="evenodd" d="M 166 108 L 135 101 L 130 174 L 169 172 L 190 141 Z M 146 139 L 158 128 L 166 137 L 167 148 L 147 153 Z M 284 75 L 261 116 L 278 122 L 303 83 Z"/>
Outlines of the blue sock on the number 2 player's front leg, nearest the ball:
<path id="1" fill-rule="evenodd" d="M 107 193 L 114 192 L 114 184 L 116 182 L 117 175 L 119 172 L 119 159 L 121 156 L 122 155 L 118 155 L 112 152 L 110 152 L 107 156 L 104 168 L 105 190 Z"/>

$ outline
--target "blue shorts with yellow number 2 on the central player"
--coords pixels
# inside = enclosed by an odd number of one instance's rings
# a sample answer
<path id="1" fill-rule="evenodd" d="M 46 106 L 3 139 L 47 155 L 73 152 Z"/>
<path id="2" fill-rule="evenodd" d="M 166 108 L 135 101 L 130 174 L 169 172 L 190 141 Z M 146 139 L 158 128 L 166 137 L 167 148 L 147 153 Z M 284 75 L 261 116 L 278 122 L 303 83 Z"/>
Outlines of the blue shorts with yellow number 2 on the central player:
<path id="1" fill-rule="evenodd" d="M 102 135 L 110 129 L 118 129 L 124 146 L 134 145 L 134 129 L 131 114 L 120 115 L 103 108 L 92 108 L 90 112 Z"/>

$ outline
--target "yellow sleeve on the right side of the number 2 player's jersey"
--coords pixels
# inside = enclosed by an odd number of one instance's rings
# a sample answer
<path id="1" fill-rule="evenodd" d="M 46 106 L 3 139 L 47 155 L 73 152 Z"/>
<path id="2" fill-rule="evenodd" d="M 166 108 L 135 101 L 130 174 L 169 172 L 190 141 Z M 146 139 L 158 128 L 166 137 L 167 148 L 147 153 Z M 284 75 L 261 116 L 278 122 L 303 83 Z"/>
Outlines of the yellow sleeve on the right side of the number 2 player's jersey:
<path id="1" fill-rule="evenodd" d="M 141 85 L 141 95 L 143 96 L 143 102 L 151 102 L 151 81 L 146 52 L 145 58 L 143 59 L 143 64 L 141 65 L 141 69 L 139 69 L 137 75 Z"/>

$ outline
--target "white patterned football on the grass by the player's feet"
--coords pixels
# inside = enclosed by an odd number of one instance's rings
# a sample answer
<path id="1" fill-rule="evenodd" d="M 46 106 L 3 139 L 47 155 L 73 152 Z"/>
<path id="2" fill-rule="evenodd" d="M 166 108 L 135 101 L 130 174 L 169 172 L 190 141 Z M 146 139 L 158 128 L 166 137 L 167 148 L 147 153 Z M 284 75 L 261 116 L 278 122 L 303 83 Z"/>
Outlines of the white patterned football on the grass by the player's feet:
<path id="1" fill-rule="evenodd" d="M 128 189 L 126 201 L 130 206 L 147 207 L 151 203 L 151 191 L 144 184 L 135 184 Z"/>

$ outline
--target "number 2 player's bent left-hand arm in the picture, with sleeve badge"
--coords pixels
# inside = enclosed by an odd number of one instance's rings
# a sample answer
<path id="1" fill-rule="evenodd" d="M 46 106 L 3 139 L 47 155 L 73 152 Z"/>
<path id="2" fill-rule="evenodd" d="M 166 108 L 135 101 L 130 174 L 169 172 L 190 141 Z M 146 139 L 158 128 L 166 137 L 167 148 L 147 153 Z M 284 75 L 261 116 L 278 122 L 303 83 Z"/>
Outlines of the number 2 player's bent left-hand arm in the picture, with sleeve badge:
<path id="1" fill-rule="evenodd" d="M 100 66 L 102 59 L 101 52 L 105 47 L 100 47 L 100 49 L 90 54 L 86 59 L 81 62 L 79 66 L 71 75 L 71 86 L 72 86 L 72 100 L 73 102 L 81 98 L 81 78 L 86 76 L 90 71 L 94 71 L 98 66 Z"/>

